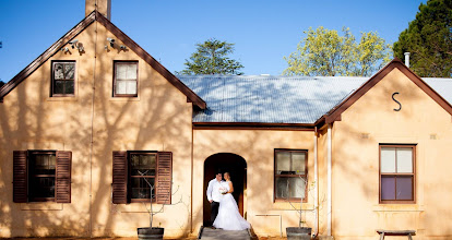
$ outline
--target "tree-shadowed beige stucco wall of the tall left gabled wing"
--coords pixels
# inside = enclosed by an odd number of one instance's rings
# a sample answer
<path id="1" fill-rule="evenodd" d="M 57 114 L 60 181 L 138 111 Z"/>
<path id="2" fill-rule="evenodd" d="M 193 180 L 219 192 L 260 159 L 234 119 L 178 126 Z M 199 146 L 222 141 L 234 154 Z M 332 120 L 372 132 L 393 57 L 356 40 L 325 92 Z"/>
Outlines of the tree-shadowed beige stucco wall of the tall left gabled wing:
<path id="1" fill-rule="evenodd" d="M 192 105 L 130 49 L 106 51 L 107 37 L 116 38 L 90 25 L 75 37 L 83 53 L 58 51 L 0 104 L 0 237 L 136 236 L 148 215 L 139 203 L 111 204 L 112 151 L 173 152 L 178 191 L 154 226 L 169 237 L 190 231 L 191 175 L 181 172 L 191 165 Z M 64 59 L 76 61 L 75 97 L 50 98 L 51 60 Z M 139 61 L 138 98 L 111 97 L 114 60 Z M 12 153 L 26 149 L 72 152 L 71 204 L 12 202 Z"/>

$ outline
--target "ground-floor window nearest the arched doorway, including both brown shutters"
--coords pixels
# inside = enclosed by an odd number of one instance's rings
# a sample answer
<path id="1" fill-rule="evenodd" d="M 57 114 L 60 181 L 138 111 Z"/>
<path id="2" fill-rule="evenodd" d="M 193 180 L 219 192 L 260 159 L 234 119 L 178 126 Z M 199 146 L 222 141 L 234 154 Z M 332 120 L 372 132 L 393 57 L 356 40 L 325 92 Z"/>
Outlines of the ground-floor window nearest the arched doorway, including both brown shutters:
<path id="1" fill-rule="evenodd" d="M 112 153 L 112 202 L 171 202 L 170 152 L 129 151 Z M 154 187 L 151 190 L 150 184 Z"/>

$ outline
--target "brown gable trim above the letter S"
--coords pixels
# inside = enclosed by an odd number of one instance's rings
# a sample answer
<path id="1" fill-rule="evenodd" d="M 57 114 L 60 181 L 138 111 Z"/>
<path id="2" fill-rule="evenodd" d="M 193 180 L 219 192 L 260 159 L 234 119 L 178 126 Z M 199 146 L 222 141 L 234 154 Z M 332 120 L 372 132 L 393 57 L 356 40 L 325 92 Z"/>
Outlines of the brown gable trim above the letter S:
<path id="1" fill-rule="evenodd" d="M 431 88 L 426 82 L 424 82 L 419 76 L 417 76 L 413 71 L 411 71 L 400 59 L 395 58 L 383 69 L 381 69 L 378 73 L 376 73 L 372 77 L 370 77 L 357 91 L 349 95 L 346 99 L 344 99 L 333 109 L 331 109 L 328 115 L 322 117 L 321 120 L 324 120 L 324 122 L 328 124 L 341 120 L 342 112 L 347 110 L 354 103 L 356 103 L 361 96 L 364 96 L 370 88 L 372 88 L 377 83 L 384 79 L 384 76 L 386 76 L 394 69 L 399 69 L 411 81 L 413 81 L 413 83 L 415 83 L 420 89 L 423 89 L 429 97 L 431 97 L 436 103 L 438 103 L 447 112 L 452 115 L 452 106 L 433 88 Z"/>

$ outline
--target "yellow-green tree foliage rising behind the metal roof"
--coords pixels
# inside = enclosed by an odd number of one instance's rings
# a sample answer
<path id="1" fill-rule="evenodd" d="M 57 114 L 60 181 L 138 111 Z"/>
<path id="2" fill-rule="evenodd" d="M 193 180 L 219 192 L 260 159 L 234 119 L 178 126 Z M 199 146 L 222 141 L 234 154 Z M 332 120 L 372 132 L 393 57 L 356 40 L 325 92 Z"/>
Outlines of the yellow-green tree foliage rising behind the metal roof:
<path id="1" fill-rule="evenodd" d="M 361 33 L 360 41 L 348 28 L 337 31 L 309 27 L 297 50 L 284 57 L 286 75 L 369 76 L 390 61 L 391 48 L 374 32 Z"/>

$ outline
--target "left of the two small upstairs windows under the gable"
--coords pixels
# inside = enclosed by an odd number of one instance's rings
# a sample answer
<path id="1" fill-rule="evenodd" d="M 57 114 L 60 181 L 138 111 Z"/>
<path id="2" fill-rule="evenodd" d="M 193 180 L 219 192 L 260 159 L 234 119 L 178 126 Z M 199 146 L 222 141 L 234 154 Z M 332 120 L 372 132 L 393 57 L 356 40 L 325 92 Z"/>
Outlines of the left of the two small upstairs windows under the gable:
<path id="1" fill-rule="evenodd" d="M 52 61 L 51 96 L 74 96 L 75 61 Z"/>

